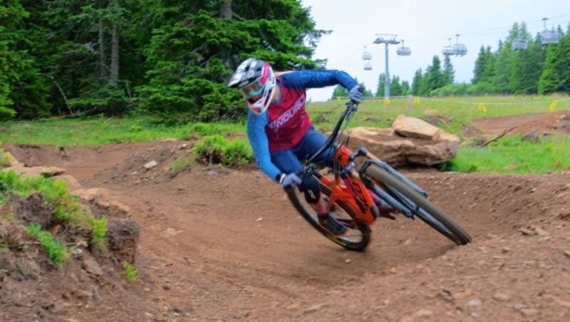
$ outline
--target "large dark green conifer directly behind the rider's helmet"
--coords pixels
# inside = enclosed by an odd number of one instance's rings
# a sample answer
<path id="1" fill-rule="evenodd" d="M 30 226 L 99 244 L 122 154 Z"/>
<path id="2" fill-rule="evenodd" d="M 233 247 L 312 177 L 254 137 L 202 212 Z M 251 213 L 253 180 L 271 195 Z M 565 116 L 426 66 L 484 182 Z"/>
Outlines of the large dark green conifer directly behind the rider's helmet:
<path id="1" fill-rule="evenodd" d="M 316 30 L 299 1 L 179 0 L 150 6 L 160 23 L 145 46 L 148 83 L 137 90 L 142 109 L 170 120 L 243 117 L 241 95 L 226 82 L 244 58 L 264 59 L 276 71 L 320 66 L 310 58 L 326 31 Z"/>

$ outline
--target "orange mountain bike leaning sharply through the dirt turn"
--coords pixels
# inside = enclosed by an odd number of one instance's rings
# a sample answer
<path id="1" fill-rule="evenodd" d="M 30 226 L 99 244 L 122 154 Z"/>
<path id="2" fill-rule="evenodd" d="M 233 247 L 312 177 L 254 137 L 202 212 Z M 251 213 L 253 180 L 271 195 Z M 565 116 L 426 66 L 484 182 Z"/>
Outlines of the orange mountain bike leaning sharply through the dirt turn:
<path id="1" fill-rule="evenodd" d="M 346 232 L 337 236 L 321 226 L 316 212 L 306 203 L 299 189 L 287 187 L 286 194 L 297 211 L 331 241 L 346 249 L 363 251 L 371 240 L 371 224 L 380 217 L 380 209 L 373 201 L 372 194 L 375 194 L 405 217 L 419 217 L 455 244 L 469 243 L 470 235 L 445 212 L 428 201 L 427 192 L 418 185 L 375 157 L 366 147 L 359 147 L 356 152 L 348 149 L 349 136 L 343 138 L 342 133 L 357 110 L 358 103 L 353 100 L 346 103 L 346 108 L 326 143 L 314 155 L 304 160 L 303 169 L 297 173 L 301 179 L 316 177 L 328 211 L 346 226 Z M 323 152 L 333 155 L 332 166 L 329 165 L 332 177 L 321 173 L 323 165 L 314 162 Z"/>

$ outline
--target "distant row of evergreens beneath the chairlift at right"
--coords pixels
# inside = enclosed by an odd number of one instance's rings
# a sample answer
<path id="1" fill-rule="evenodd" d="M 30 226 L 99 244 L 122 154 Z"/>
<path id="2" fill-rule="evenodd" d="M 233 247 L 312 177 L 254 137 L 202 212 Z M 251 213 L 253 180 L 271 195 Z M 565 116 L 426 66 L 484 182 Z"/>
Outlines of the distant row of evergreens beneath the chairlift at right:
<path id="1" fill-rule="evenodd" d="M 534 95 L 570 93 L 570 25 L 558 43 L 545 44 L 541 34 L 532 38 L 527 25 L 514 23 L 506 40 L 499 40 L 497 50 L 481 46 L 475 61 L 470 83 L 455 83 L 455 71 L 450 56 L 433 56 L 432 63 L 423 71 L 415 71 L 412 84 L 390 80 L 390 95 Z M 524 41 L 525 50 L 515 49 L 514 43 Z M 362 84 L 361 84 L 362 85 Z M 380 74 L 375 96 L 384 95 L 385 75 Z M 343 96 L 342 88 L 335 88 L 333 97 Z M 374 96 L 371 90 L 365 95 Z"/>

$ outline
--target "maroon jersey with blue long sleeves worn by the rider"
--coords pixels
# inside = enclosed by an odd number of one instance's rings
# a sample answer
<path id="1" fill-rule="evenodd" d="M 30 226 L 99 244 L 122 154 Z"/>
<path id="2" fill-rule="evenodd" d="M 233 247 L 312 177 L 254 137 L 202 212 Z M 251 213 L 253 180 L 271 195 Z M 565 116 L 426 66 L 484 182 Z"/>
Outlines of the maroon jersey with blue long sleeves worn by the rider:
<path id="1" fill-rule="evenodd" d="M 278 100 L 271 101 L 269 108 L 260 115 L 252 111 L 247 115 L 247 137 L 252 145 L 257 166 L 262 172 L 276 180 L 281 170 L 271 162 L 271 152 L 288 150 L 284 148 L 288 142 L 279 142 L 281 137 L 289 135 L 290 140 L 291 135 L 296 135 L 300 140 L 308 130 L 310 120 L 305 111 L 306 89 L 338 84 L 347 90 L 358 85 L 347 73 L 337 70 L 292 71 L 276 78 L 276 86 L 279 86 L 281 91 Z M 304 126 L 295 123 L 304 123 Z M 293 141 L 292 144 L 298 143 Z"/>

